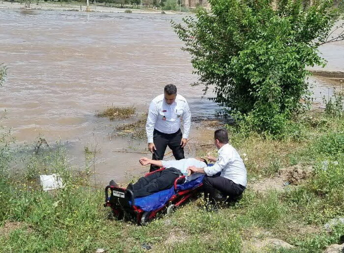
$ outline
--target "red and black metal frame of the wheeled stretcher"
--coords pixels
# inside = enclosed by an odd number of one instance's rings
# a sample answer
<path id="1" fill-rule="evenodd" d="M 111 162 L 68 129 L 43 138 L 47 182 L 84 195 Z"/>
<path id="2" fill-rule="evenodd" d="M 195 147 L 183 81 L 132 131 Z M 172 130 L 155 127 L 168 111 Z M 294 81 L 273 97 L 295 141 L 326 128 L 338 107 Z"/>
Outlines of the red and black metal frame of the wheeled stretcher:
<path id="1" fill-rule="evenodd" d="M 157 169 L 153 172 L 146 173 L 144 176 L 148 176 L 152 173 L 164 170 L 165 168 Z M 138 225 L 145 225 L 149 221 L 156 218 L 158 212 L 167 208 L 167 214 L 171 214 L 179 205 L 184 203 L 192 195 L 198 192 L 202 183 L 198 184 L 197 187 L 192 187 L 191 189 L 178 191 L 177 185 L 179 180 L 185 178 L 185 176 L 179 176 L 174 180 L 174 194 L 168 199 L 168 201 L 160 208 L 152 211 L 144 211 L 139 206 L 135 205 L 135 199 L 133 192 L 130 189 L 125 189 L 121 187 L 115 187 L 108 185 L 105 188 L 105 204 L 104 207 L 111 207 L 114 217 L 118 220 L 123 219 L 124 216 L 129 216 L 134 218 Z M 111 191 L 109 197 L 109 190 Z"/>

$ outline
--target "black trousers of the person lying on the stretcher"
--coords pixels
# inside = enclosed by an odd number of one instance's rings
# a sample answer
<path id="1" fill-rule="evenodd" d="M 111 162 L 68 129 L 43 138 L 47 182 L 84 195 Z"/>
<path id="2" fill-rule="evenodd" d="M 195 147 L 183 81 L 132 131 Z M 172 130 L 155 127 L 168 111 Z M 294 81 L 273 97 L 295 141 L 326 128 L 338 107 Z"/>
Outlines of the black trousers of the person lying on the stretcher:
<path id="1" fill-rule="evenodd" d="M 141 177 L 135 184 L 129 185 L 128 188 L 133 191 L 134 197 L 145 197 L 170 188 L 174 184 L 174 180 L 180 175 L 182 173 L 179 169 L 168 168 Z"/>

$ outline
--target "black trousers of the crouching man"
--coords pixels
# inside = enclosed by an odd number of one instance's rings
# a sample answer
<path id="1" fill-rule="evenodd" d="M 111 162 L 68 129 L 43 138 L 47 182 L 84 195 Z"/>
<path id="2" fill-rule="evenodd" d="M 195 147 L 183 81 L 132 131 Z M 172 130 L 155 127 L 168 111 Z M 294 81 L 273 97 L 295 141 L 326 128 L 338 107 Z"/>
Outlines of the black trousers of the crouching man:
<path id="1" fill-rule="evenodd" d="M 226 177 L 220 176 L 221 173 L 217 173 L 213 176 L 205 175 L 203 178 L 203 191 L 204 200 L 208 200 L 210 203 L 223 201 L 235 201 L 244 192 L 246 187 L 236 184 Z"/>

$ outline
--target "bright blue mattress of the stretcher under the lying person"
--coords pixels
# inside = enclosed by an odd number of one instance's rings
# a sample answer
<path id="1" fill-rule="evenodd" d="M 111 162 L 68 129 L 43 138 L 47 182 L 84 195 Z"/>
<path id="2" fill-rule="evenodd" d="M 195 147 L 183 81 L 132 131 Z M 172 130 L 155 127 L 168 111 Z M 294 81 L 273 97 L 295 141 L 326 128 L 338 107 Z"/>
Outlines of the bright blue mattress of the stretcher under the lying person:
<path id="1" fill-rule="evenodd" d="M 192 181 L 177 185 L 177 191 L 184 191 L 198 187 L 202 183 L 203 177 L 204 175 L 201 175 Z M 170 189 L 153 193 L 146 197 L 135 198 L 135 205 L 139 206 L 143 211 L 149 212 L 163 207 L 174 194 L 174 186 L 172 186 Z"/>

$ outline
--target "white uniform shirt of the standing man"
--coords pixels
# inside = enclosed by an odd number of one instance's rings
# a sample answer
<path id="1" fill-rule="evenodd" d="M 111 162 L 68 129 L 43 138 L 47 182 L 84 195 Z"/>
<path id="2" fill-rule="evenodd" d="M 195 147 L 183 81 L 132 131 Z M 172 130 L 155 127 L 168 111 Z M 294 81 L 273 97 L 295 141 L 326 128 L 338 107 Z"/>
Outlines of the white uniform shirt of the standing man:
<path id="1" fill-rule="evenodd" d="M 191 113 L 186 99 L 177 94 L 175 101 L 168 105 L 164 94 L 152 100 L 149 106 L 146 133 L 148 143 L 153 143 L 154 128 L 164 134 L 173 134 L 180 128 L 180 119 L 183 118 L 183 138 L 188 139 L 191 126 Z"/>

